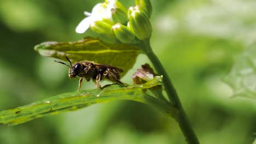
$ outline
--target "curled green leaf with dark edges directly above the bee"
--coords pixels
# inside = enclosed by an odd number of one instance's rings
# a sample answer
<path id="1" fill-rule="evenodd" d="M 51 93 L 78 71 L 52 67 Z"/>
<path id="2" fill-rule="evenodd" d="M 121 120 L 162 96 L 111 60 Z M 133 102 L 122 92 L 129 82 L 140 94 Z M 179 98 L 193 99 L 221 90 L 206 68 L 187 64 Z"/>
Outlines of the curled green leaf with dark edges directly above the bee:
<path id="1" fill-rule="evenodd" d="M 48 41 L 36 45 L 34 50 L 45 57 L 55 57 L 71 62 L 94 61 L 101 64 L 114 65 L 124 70 L 130 70 L 136 61 L 139 47 L 127 44 L 107 44 L 100 39 L 86 37 L 73 42 Z"/>

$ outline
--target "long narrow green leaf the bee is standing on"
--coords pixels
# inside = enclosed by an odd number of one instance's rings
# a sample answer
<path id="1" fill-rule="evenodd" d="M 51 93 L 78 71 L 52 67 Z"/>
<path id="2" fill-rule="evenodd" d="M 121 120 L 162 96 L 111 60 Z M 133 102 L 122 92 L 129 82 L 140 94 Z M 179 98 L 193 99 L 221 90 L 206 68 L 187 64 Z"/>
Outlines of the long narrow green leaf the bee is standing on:
<path id="1" fill-rule="evenodd" d="M 0 123 L 17 125 L 34 118 L 55 115 L 60 112 L 74 111 L 97 103 L 105 103 L 112 100 L 133 100 L 144 104 L 155 106 L 168 115 L 176 111 L 170 104 L 148 95 L 142 89 L 148 89 L 162 84 L 162 76 L 155 76 L 154 79 L 142 85 L 121 87 L 120 85 L 109 85 L 102 90 L 88 89 L 64 93 L 32 104 L 20 106 L 15 109 L 0 111 Z"/>

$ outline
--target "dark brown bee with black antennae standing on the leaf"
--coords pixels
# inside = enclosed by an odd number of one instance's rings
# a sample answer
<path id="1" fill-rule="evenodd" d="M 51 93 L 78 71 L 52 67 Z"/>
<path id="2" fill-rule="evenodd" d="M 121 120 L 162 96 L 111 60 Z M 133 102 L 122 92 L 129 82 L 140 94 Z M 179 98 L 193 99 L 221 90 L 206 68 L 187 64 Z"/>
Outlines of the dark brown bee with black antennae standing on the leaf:
<path id="1" fill-rule="evenodd" d="M 75 62 L 72 65 L 67 56 L 66 59 L 70 65 L 57 60 L 55 60 L 55 62 L 67 65 L 69 67 L 68 76 L 70 79 L 74 79 L 76 76 L 80 77 L 78 91 L 80 91 L 82 86 L 83 78 L 85 78 L 86 81 L 90 81 L 91 79 L 94 80 L 96 82 L 97 89 L 101 88 L 100 81 L 104 79 L 117 82 L 121 86 L 127 86 L 126 83 L 120 81 L 119 73 L 124 72 L 120 68 L 107 64 L 94 63 L 91 61 Z"/>

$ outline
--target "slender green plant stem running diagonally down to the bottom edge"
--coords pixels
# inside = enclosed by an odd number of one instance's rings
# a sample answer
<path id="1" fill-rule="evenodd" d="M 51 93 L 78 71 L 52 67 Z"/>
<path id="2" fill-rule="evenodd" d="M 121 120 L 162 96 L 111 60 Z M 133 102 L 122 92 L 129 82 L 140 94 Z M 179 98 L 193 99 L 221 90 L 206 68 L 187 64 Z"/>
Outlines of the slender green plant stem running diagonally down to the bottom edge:
<path id="1" fill-rule="evenodd" d="M 146 53 L 150 61 L 153 63 L 156 71 L 158 71 L 160 75 L 164 76 L 163 83 L 165 91 L 170 101 L 174 103 L 174 106 L 176 106 L 178 110 L 176 115 L 174 115 L 174 118 L 178 122 L 179 127 L 181 128 L 183 135 L 185 136 L 185 139 L 188 143 L 199 143 L 191 125 L 189 124 L 187 115 L 185 114 L 181 101 L 178 98 L 178 95 L 171 83 L 171 80 L 169 79 L 164 67 L 162 67 L 162 64 L 159 61 L 158 57 L 155 55 L 155 53 L 152 51 L 152 48 L 150 47 L 149 39 L 141 41 L 141 48 L 144 53 Z"/>

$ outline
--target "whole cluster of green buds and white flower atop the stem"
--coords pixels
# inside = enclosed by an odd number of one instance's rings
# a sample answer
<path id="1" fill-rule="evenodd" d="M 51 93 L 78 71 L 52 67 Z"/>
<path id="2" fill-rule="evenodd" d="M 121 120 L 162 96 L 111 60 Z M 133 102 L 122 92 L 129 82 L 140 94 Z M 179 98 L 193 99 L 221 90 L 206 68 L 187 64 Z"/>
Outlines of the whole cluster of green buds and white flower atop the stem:
<path id="1" fill-rule="evenodd" d="M 149 0 L 136 0 L 136 6 L 128 10 L 117 0 L 98 3 L 75 31 L 84 33 L 89 27 L 107 43 L 135 44 L 151 36 L 152 26 L 149 17 L 152 5 Z"/>

